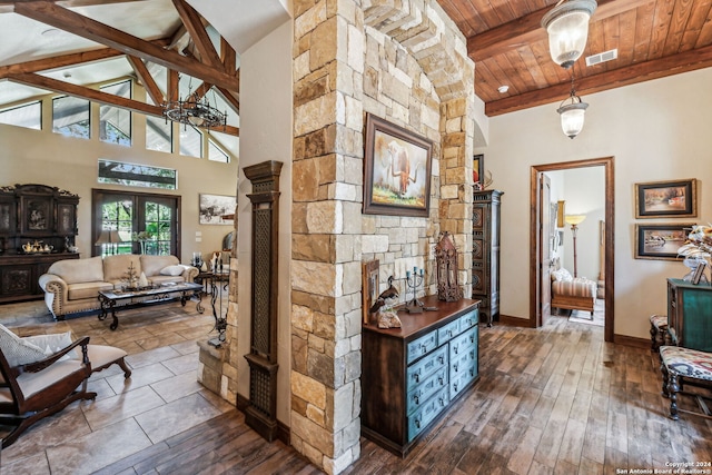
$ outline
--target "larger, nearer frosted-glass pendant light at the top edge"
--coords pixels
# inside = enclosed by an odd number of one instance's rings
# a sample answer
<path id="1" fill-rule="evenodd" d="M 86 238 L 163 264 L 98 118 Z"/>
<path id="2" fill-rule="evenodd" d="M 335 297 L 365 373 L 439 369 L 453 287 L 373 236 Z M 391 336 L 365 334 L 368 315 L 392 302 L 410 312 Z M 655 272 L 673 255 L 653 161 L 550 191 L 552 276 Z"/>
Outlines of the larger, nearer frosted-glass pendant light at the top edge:
<path id="1" fill-rule="evenodd" d="M 595 0 L 561 0 L 542 18 L 548 33 L 548 51 L 554 62 L 571 68 L 586 48 L 589 20 L 595 11 Z"/>

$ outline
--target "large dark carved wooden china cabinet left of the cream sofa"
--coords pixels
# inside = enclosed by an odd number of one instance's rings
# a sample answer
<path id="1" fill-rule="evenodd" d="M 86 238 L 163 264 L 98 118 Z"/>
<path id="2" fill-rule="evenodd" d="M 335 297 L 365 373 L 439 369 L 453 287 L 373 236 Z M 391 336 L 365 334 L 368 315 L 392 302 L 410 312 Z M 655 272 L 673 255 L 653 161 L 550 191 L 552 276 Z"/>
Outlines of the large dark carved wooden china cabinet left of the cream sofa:
<path id="1" fill-rule="evenodd" d="M 46 185 L 0 187 L 0 303 L 42 298 L 39 277 L 52 263 L 78 259 L 79 197 Z"/>

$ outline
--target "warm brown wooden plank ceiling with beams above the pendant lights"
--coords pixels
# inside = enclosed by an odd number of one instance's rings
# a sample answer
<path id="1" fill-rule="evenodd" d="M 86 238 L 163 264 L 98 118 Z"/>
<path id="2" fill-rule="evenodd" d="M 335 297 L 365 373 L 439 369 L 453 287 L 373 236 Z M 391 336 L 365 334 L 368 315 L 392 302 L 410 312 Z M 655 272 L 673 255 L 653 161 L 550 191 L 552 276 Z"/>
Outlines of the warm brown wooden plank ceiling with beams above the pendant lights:
<path id="1" fill-rule="evenodd" d="M 541 19 L 557 0 L 437 0 L 467 38 L 475 93 L 497 116 L 564 100 L 571 70 L 554 63 Z M 586 95 L 712 66 L 712 0 L 599 0 L 574 66 Z M 585 57 L 617 49 L 586 67 Z M 501 93 L 500 86 L 508 86 Z"/>

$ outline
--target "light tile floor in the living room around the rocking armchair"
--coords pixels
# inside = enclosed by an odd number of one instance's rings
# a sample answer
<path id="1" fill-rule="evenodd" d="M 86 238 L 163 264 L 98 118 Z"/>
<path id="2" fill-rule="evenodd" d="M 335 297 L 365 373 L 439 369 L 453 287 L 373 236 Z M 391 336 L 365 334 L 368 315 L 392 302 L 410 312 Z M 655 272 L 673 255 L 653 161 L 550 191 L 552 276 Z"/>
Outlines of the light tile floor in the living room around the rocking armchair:
<path id="1" fill-rule="evenodd" d="M 206 306 L 206 299 L 202 299 Z M 226 306 L 224 306 L 226 308 Z M 220 414 L 236 410 L 198 382 L 199 339 L 215 336 L 211 310 L 194 301 L 121 310 L 119 327 L 96 314 L 53 321 L 43 301 L 0 305 L 0 323 L 20 336 L 71 330 L 123 348 L 132 375 L 118 366 L 96 373 L 96 400 L 72 403 L 40 420 L 2 451 L 2 474 L 89 474 Z M 134 472 L 131 472 L 134 473 Z"/>

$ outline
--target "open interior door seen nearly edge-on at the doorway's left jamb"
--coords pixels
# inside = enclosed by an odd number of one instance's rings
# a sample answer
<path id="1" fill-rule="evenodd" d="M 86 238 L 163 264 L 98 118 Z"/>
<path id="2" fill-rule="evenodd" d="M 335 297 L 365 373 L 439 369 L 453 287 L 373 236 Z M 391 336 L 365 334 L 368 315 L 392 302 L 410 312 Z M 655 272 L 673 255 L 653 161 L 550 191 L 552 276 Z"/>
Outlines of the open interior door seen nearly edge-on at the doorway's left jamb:
<path id="1" fill-rule="evenodd" d="M 551 286 L 551 253 L 554 235 L 552 222 L 556 219 L 552 216 L 551 206 L 551 180 L 545 174 L 540 174 L 538 179 L 538 261 L 540 261 L 540 291 L 538 305 L 536 306 L 537 325 L 546 324 L 546 318 L 552 309 L 552 286 Z"/>

